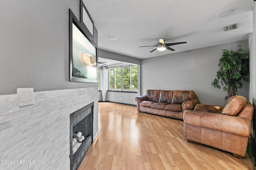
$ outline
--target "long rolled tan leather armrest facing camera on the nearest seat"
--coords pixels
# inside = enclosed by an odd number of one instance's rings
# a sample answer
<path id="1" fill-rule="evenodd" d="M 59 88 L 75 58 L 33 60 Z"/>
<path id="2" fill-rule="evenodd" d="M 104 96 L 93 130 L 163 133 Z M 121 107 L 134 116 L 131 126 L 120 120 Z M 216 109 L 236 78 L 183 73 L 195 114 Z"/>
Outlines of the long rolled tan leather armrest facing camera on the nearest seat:
<path id="1" fill-rule="evenodd" d="M 249 137 L 252 120 L 245 117 L 222 115 L 204 111 L 185 110 L 183 114 L 184 123 Z"/>

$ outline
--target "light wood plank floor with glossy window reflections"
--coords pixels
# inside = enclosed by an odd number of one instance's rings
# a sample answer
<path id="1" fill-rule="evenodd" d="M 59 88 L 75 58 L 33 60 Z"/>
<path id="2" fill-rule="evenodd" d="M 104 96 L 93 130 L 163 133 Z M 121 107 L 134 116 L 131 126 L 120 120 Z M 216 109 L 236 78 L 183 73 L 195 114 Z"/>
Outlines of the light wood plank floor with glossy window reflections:
<path id="1" fill-rule="evenodd" d="M 99 102 L 99 134 L 78 170 L 252 170 L 252 149 L 242 159 L 188 143 L 183 121 L 136 107 Z"/>

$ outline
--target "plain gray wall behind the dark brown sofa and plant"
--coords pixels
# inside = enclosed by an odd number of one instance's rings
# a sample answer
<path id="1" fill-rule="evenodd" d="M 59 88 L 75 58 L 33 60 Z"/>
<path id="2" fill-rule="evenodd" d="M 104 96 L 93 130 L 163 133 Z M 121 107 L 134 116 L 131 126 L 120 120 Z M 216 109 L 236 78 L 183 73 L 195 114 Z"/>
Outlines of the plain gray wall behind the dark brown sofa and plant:
<path id="1" fill-rule="evenodd" d="M 147 89 L 194 90 L 202 104 L 223 106 L 226 92 L 211 86 L 218 70 L 222 49 L 248 50 L 248 40 L 216 45 L 143 59 L 141 62 L 141 95 Z M 238 92 L 248 98 L 248 84 Z"/>

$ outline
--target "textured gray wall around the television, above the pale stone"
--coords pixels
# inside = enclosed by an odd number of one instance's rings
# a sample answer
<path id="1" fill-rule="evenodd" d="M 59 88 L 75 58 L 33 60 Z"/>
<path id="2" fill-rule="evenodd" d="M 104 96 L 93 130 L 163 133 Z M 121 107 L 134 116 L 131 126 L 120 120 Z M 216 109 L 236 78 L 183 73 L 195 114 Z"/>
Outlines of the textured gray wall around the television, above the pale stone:
<path id="1" fill-rule="evenodd" d="M 69 82 L 68 9 L 79 20 L 79 0 L 2 0 L 0 5 L 0 95 L 17 88 L 34 92 L 85 88 Z"/>

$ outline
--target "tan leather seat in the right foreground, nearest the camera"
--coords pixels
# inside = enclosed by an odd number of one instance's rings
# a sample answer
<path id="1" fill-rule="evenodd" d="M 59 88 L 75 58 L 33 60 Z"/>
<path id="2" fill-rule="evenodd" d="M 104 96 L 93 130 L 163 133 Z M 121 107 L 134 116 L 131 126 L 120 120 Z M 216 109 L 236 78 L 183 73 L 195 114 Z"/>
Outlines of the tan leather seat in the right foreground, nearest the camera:
<path id="1" fill-rule="evenodd" d="M 189 143 L 195 141 L 242 158 L 251 133 L 253 111 L 243 96 L 228 98 L 224 107 L 198 104 L 194 110 L 184 111 L 184 137 Z"/>

